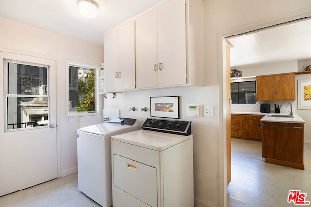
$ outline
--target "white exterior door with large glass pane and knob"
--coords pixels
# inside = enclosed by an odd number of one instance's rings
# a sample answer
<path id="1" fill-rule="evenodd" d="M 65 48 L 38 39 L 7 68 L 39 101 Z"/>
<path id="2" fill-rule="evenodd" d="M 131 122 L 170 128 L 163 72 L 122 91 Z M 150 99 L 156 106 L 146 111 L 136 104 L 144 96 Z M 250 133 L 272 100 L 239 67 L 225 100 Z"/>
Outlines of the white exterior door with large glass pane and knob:
<path id="1" fill-rule="evenodd" d="M 0 52 L 0 196 L 58 177 L 56 61 Z"/>

